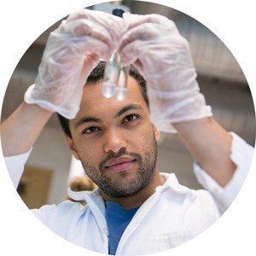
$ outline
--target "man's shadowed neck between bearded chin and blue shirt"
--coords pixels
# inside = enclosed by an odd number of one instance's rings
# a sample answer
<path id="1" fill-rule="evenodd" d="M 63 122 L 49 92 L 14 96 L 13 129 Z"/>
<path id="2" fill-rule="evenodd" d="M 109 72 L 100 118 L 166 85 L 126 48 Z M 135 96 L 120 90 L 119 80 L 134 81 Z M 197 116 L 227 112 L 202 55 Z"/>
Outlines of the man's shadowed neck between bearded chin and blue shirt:
<path id="1" fill-rule="evenodd" d="M 160 177 L 160 173 L 154 172 L 153 177 L 150 179 L 149 183 L 145 188 L 141 191 L 137 192 L 135 195 L 127 196 L 127 197 L 113 197 L 111 195 L 107 195 L 101 190 L 102 197 L 104 201 L 115 201 L 119 203 L 119 205 L 125 209 L 131 209 L 135 207 L 140 207 L 143 205 L 144 201 L 154 194 L 155 189 L 158 186 L 161 186 L 165 183 L 162 177 Z"/>

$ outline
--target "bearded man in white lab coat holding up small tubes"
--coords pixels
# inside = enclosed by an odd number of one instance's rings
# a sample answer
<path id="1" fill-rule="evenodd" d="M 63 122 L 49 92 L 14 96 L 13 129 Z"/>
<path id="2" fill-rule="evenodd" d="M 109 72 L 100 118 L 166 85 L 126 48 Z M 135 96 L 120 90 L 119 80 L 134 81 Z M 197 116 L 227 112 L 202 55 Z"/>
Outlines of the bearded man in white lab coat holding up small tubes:
<path id="1" fill-rule="evenodd" d="M 100 58 L 113 49 L 123 65 L 137 67 L 121 102 L 102 96 Z M 1 126 L 3 154 L 17 185 L 33 143 L 59 113 L 68 147 L 99 189 L 69 191 L 86 207 L 65 201 L 36 216 L 68 241 L 107 254 L 159 253 L 207 229 L 241 188 L 253 148 L 212 118 L 195 77 L 189 46 L 165 17 L 81 10 L 63 21 L 25 102 Z M 160 131 L 177 131 L 212 195 L 160 173 Z"/>

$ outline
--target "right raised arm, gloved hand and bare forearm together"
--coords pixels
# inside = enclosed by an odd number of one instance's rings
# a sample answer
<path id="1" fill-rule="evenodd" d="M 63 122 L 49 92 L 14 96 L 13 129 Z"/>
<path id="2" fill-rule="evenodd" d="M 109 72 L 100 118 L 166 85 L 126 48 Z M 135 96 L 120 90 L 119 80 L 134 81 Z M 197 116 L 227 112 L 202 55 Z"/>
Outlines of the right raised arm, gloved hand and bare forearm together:
<path id="1" fill-rule="evenodd" d="M 177 132 L 210 177 L 207 180 L 213 179 L 221 188 L 235 176 L 237 165 L 240 170 L 244 166 L 246 173 L 244 161 L 236 163 L 231 157 L 233 138 L 212 118 L 196 80 L 189 44 L 172 20 L 161 15 L 125 14 L 123 18 L 127 31 L 119 46 L 121 61 L 134 63 L 147 80 L 154 125 L 160 131 Z M 252 155 L 253 149 L 245 148 L 240 160 Z M 236 186 L 233 195 L 240 187 Z"/>

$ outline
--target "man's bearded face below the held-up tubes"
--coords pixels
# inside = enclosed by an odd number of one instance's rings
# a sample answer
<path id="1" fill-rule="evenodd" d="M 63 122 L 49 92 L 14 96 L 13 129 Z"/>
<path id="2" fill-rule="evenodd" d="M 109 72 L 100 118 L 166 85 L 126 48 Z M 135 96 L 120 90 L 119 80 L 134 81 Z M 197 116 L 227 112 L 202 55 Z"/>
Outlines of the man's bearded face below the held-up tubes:
<path id="1" fill-rule="evenodd" d="M 69 124 L 73 155 L 104 193 L 126 197 L 152 183 L 159 133 L 135 79 L 129 77 L 122 102 L 103 97 L 102 83 L 86 84 L 79 113 Z"/>

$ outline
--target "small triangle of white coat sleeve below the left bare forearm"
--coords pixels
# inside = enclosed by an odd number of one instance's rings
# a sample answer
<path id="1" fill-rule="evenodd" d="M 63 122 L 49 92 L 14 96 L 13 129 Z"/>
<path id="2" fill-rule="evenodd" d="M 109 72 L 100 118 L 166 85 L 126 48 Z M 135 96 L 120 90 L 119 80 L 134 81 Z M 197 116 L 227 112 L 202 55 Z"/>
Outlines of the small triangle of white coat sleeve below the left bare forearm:
<path id="1" fill-rule="evenodd" d="M 15 189 L 18 188 L 18 185 L 20 183 L 20 177 L 24 172 L 24 166 L 26 164 L 26 160 L 31 154 L 31 151 L 32 148 L 24 154 L 17 154 L 13 156 L 4 157 L 5 165 L 9 172 L 9 176 L 15 185 Z"/>

